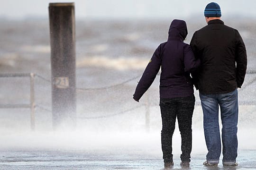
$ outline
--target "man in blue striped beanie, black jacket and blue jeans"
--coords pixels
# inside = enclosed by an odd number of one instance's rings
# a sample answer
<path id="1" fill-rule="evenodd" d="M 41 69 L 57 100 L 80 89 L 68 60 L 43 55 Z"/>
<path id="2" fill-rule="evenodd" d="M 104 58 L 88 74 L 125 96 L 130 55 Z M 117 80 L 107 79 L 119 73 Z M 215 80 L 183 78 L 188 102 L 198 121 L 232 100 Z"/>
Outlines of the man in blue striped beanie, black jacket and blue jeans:
<path id="1" fill-rule="evenodd" d="M 203 110 L 203 128 L 208 153 L 205 166 L 218 166 L 221 153 L 219 107 L 222 123 L 222 164 L 238 166 L 238 88 L 247 69 L 246 47 L 238 30 L 224 25 L 217 3 L 209 3 L 204 16 L 207 26 L 196 31 L 190 42 L 194 55 L 201 60 L 192 74 L 199 89 Z"/>

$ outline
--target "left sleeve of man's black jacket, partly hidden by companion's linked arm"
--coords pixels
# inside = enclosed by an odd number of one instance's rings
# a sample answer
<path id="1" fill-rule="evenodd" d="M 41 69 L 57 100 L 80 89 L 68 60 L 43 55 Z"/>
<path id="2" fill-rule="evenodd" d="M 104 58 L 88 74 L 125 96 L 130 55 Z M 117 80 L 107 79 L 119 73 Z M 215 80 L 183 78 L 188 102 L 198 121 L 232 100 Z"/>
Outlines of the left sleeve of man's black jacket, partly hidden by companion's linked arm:
<path id="1" fill-rule="evenodd" d="M 190 42 L 190 46 L 192 48 L 195 59 L 200 59 L 199 51 L 198 51 L 198 47 L 197 47 L 197 32 L 195 32 L 193 34 L 191 42 Z M 197 90 L 199 88 L 198 87 L 198 81 L 199 81 L 198 80 L 198 75 L 199 75 L 199 69 L 197 69 L 196 71 L 193 71 L 191 73 L 193 84 L 194 84 L 194 86 Z"/>

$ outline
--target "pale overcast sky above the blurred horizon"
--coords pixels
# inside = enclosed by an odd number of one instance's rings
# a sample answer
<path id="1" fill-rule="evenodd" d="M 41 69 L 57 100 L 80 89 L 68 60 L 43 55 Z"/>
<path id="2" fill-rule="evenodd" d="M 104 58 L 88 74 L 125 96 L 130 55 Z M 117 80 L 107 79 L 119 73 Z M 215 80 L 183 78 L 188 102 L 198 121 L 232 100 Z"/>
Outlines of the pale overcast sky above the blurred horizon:
<path id="1" fill-rule="evenodd" d="M 74 2 L 78 18 L 152 18 L 203 15 L 211 0 L 1 0 L 0 17 L 48 17 L 48 5 Z M 256 17 L 256 0 L 215 0 L 222 16 Z"/>

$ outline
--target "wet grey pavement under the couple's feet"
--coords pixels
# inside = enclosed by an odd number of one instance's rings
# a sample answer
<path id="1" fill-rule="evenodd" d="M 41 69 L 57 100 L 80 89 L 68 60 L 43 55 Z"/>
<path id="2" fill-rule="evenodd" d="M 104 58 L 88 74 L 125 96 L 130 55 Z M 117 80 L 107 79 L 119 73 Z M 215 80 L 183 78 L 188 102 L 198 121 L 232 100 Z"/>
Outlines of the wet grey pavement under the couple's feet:
<path id="1" fill-rule="evenodd" d="M 4 151 L 0 153 L 0 170 L 164 170 L 159 155 L 107 154 L 72 151 Z M 174 157 L 172 170 L 256 170 L 256 150 L 239 151 L 238 167 L 202 165 L 204 154 L 192 156 L 189 168 L 182 168 Z"/>

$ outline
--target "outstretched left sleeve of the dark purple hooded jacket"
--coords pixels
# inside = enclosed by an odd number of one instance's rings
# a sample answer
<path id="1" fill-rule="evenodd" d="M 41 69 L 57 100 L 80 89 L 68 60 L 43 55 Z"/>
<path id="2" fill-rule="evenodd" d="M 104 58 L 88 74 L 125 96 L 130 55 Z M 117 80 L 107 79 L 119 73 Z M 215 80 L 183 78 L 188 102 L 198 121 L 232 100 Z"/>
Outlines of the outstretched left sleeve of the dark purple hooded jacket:
<path id="1" fill-rule="evenodd" d="M 133 99 L 137 102 L 142 97 L 142 95 L 147 91 L 147 89 L 152 85 L 155 80 L 155 76 L 157 75 L 160 67 L 161 67 L 161 59 L 160 59 L 160 45 L 155 50 L 152 58 L 150 59 L 146 69 L 140 78 L 135 93 L 133 94 Z"/>

